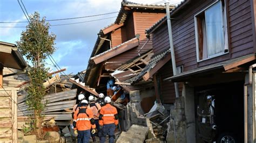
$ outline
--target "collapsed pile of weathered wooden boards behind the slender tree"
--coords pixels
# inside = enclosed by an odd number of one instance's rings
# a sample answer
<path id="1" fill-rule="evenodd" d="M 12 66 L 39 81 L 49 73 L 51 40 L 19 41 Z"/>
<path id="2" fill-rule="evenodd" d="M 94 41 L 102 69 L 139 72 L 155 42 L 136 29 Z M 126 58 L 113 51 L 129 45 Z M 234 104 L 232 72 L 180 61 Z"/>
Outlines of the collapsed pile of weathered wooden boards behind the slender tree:
<path id="1" fill-rule="evenodd" d="M 48 76 L 55 73 L 56 72 L 49 73 Z M 77 89 L 71 90 L 72 83 L 68 80 L 71 76 L 72 75 L 59 76 L 56 74 L 54 77 L 48 78 L 45 80 L 45 83 L 43 83 L 46 87 L 46 95 L 42 100 L 42 103 L 45 104 L 44 111 L 42 112 L 44 121 L 54 119 L 57 124 L 69 125 L 69 122 L 72 119 L 72 108 L 76 104 L 77 94 Z M 17 118 L 19 129 L 26 126 L 26 122 L 29 121 L 30 115 L 33 114 L 32 111 L 28 110 L 28 105 L 26 105 L 26 97 L 28 93 L 26 93 L 25 90 L 29 83 L 29 81 L 25 81 L 18 85 L 23 89 L 17 93 Z"/>

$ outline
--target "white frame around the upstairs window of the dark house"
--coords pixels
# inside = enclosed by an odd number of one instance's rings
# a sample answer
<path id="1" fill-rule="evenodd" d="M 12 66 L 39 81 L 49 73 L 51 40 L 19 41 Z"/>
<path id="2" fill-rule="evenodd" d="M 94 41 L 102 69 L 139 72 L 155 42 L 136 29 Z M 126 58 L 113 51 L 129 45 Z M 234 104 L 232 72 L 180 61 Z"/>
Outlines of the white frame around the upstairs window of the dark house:
<path id="1" fill-rule="evenodd" d="M 228 40 L 226 41 L 225 39 L 225 32 L 227 32 L 227 28 L 225 26 L 227 26 L 227 13 L 226 13 L 226 1 L 224 1 L 225 3 L 225 8 L 224 8 L 224 16 L 223 16 L 223 19 L 221 19 L 222 23 L 223 23 L 223 26 L 224 26 L 224 31 L 223 31 L 223 37 L 224 37 L 224 51 L 221 52 L 221 53 L 217 53 L 215 55 L 212 55 L 212 56 L 207 56 L 207 58 L 205 59 L 199 59 L 199 45 L 198 45 L 198 29 L 197 29 L 197 16 L 200 15 L 202 12 L 204 12 L 205 10 L 207 10 L 208 8 L 210 8 L 211 6 L 213 6 L 214 4 L 220 2 L 221 0 L 216 0 L 215 2 L 213 2 L 211 5 L 207 6 L 205 9 L 199 11 L 196 15 L 194 15 L 194 28 L 195 28 L 195 36 L 196 36 L 196 52 L 197 52 L 197 62 L 202 62 L 204 60 L 208 60 L 208 59 L 211 59 L 211 58 L 215 58 L 215 57 L 218 57 L 218 56 L 221 56 L 221 55 L 226 55 L 227 53 L 229 53 L 229 49 L 227 52 L 225 52 L 225 44 L 228 44 Z M 223 9 L 223 5 L 221 5 L 221 9 Z M 221 11 L 222 12 L 222 11 Z M 224 19 L 225 18 L 225 19 Z M 206 30 L 206 36 L 207 36 L 207 30 Z M 228 34 L 227 34 L 228 36 Z M 227 38 L 228 39 L 228 38 Z M 207 40 L 207 37 L 206 37 L 206 40 Z M 207 55 L 208 55 L 208 46 L 207 46 Z"/>

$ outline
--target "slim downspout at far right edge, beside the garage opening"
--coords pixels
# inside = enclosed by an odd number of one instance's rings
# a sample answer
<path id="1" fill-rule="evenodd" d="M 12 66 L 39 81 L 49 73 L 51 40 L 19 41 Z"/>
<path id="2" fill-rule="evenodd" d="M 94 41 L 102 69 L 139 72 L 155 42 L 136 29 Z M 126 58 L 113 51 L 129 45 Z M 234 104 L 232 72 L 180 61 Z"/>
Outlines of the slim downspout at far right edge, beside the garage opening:
<path id="1" fill-rule="evenodd" d="M 247 85 L 251 85 L 252 84 L 252 69 L 256 67 L 256 64 L 253 64 L 249 67 L 249 71 L 248 71 L 248 74 L 249 74 L 249 80 L 248 80 L 248 83 L 245 83 L 244 84 L 244 142 L 248 142 L 248 139 L 247 139 L 247 126 L 248 126 L 248 117 L 247 117 L 247 96 L 248 96 L 248 93 L 247 93 Z"/>

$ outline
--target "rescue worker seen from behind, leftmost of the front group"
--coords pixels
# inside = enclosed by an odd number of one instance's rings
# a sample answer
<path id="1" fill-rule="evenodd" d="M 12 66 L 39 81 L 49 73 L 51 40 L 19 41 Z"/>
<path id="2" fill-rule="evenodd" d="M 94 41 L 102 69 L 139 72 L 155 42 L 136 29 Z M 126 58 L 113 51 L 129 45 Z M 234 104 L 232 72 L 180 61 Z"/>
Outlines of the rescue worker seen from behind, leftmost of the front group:
<path id="1" fill-rule="evenodd" d="M 91 133 L 95 134 L 95 120 L 90 108 L 87 108 L 88 101 L 82 100 L 81 106 L 77 108 L 74 114 L 73 126 L 75 133 L 78 133 L 77 142 L 87 143 L 90 141 Z M 91 131 L 92 128 L 92 131 Z"/>

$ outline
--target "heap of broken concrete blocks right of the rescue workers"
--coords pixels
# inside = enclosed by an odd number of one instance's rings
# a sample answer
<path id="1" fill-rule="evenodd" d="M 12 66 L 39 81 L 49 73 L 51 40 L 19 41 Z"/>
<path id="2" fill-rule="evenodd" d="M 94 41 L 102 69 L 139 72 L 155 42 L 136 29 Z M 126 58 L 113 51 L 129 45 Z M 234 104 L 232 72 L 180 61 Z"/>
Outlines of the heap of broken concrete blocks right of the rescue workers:
<path id="1" fill-rule="evenodd" d="M 154 104 L 148 113 L 143 114 L 139 96 L 139 91 L 130 92 L 131 100 L 125 106 L 125 118 L 119 120 L 124 125 L 124 130 L 116 134 L 117 142 L 164 142 L 169 128 L 167 123 L 170 122 L 170 111 L 161 104 Z"/>

